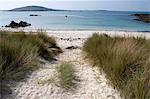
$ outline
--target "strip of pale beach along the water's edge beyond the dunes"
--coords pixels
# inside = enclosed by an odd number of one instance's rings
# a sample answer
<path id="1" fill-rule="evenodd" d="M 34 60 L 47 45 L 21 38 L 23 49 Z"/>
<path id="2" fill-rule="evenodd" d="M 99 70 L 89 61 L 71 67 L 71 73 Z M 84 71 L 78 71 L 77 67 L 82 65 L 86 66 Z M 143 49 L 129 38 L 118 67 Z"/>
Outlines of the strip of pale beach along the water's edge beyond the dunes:
<path id="1" fill-rule="evenodd" d="M 46 29 L 34 29 L 34 28 L 0 28 L 0 31 L 10 31 L 10 32 L 30 32 L 30 33 L 36 33 L 38 31 L 46 32 L 49 36 L 54 36 L 55 38 L 69 38 L 74 35 L 77 38 L 88 38 L 93 33 L 98 34 L 107 34 L 110 36 L 121 36 L 121 37 L 144 37 L 144 38 L 150 38 L 150 31 L 114 31 L 114 30 L 69 30 L 69 29 L 60 29 L 60 30 L 46 30 Z"/>

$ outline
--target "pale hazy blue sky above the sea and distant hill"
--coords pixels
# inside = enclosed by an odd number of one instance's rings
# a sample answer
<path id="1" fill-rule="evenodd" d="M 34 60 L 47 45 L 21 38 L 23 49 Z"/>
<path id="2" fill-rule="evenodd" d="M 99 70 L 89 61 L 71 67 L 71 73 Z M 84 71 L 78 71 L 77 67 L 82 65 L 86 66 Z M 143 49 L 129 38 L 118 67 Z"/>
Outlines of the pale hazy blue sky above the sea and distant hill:
<path id="1" fill-rule="evenodd" d="M 150 11 L 150 0 L 0 0 L 0 10 L 27 5 L 66 10 Z"/>

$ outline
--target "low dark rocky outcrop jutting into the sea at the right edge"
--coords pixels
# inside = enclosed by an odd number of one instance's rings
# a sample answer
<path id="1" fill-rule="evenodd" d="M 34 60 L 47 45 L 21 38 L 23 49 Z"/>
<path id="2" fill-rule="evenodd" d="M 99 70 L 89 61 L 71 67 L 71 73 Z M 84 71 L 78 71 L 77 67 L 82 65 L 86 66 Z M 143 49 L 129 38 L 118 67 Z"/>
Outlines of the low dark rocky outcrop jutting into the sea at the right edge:
<path id="1" fill-rule="evenodd" d="M 145 23 L 150 23 L 150 14 L 132 14 L 132 16 L 136 16 L 136 21 L 142 21 Z"/>

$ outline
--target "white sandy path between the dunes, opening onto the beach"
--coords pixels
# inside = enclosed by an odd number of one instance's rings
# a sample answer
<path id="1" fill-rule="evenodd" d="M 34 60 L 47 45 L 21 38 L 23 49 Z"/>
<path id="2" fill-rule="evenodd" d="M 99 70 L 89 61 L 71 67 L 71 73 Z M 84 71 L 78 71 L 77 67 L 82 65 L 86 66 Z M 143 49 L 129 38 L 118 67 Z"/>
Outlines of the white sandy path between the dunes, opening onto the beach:
<path id="1" fill-rule="evenodd" d="M 100 73 L 96 67 L 92 67 L 87 62 L 81 49 L 67 50 L 68 46 L 82 47 L 86 38 L 98 31 L 48 31 L 49 36 L 56 38 L 58 45 L 63 49 L 63 53 L 56 57 L 58 61 L 46 62 L 43 68 L 34 71 L 26 81 L 19 82 L 13 87 L 13 94 L 6 98 L 11 99 L 121 99 L 119 92 L 114 90 L 105 78 L 104 73 Z M 116 32 L 99 31 L 111 36 L 145 36 L 150 38 L 150 33 L 142 32 Z M 69 40 L 67 40 L 69 38 Z M 62 40 L 66 39 L 66 40 Z M 73 91 L 64 92 L 58 85 L 57 66 L 62 62 L 71 62 L 74 65 L 76 88 Z M 51 79 L 49 83 L 42 83 Z"/>

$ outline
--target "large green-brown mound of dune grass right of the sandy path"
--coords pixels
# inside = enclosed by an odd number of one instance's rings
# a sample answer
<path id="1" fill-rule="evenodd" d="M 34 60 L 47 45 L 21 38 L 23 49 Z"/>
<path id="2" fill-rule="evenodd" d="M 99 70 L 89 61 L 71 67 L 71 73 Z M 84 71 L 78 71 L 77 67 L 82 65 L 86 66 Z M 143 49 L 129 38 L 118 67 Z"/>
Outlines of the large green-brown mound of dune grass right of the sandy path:
<path id="1" fill-rule="evenodd" d="M 93 34 L 83 50 L 125 99 L 150 98 L 150 40 Z"/>

